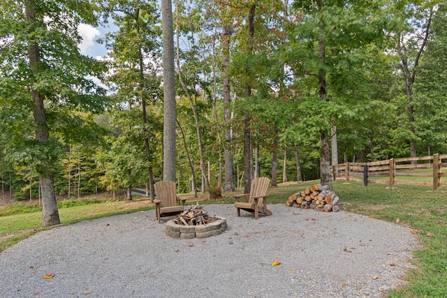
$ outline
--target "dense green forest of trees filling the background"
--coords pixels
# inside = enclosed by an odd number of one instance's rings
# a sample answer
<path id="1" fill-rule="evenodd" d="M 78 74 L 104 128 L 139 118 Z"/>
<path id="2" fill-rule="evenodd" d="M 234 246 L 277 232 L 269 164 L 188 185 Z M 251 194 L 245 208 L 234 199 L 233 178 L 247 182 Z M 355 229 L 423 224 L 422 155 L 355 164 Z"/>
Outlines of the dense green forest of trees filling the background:
<path id="1" fill-rule="evenodd" d="M 2 4 L 3 198 L 37 198 L 42 173 L 56 195 L 75 198 L 163 179 L 159 3 L 76 3 Z M 258 176 L 274 186 L 321 179 L 339 161 L 447 152 L 442 1 L 172 5 L 177 191 L 230 191 Z M 78 24 L 105 20 L 117 27 L 101 40 L 108 56 L 80 54 Z"/>

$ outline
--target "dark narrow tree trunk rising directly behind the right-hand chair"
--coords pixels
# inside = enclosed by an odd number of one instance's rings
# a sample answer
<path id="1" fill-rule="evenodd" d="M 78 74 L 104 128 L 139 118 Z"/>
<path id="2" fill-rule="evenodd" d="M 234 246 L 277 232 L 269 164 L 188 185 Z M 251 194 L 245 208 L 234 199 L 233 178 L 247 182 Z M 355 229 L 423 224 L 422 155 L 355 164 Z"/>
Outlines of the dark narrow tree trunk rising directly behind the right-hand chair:
<path id="1" fill-rule="evenodd" d="M 249 20 L 248 20 L 248 45 L 247 45 L 247 54 L 251 55 L 253 51 L 253 36 L 254 36 L 254 14 L 256 11 L 256 4 L 251 6 L 249 11 Z M 250 70 L 247 67 L 247 77 L 251 77 Z M 251 96 L 251 84 L 247 83 L 247 87 L 245 88 L 245 97 L 249 98 Z M 250 121 L 251 117 L 248 112 L 245 113 L 244 117 L 244 175 L 245 175 L 245 185 L 244 185 L 244 193 L 249 193 L 251 188 L 251 133 L 250 133 Z"/>

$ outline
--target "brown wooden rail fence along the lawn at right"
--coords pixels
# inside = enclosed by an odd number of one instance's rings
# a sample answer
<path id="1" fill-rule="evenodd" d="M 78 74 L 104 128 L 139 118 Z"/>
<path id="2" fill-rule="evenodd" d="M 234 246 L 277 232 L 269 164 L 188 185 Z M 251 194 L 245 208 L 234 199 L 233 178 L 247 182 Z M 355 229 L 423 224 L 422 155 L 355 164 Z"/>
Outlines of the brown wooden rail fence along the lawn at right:
<path id="1" fill-rule="evenodd" d="M 427 172 L 426 169 L 432 169 Z M 363 181 L 368 183 L 412 184 L 433 186 L 434 191 L 439 187 L 447 186 L 441 182 L 441 177 L 447 177 L 447 154 L 434 154 L 432 156 L 418 156 L 406 158 L 391 158 L 386 161 L 373 161 L 369 163 L 341 163 L 332 165 L 332 179 L 349 181 Z M 425 172 L 424 172 L 425 170 Z M 413 172 L 422 171 L 422 172 Z M 405 177 L 420 177 L 406 180 Z"/>

